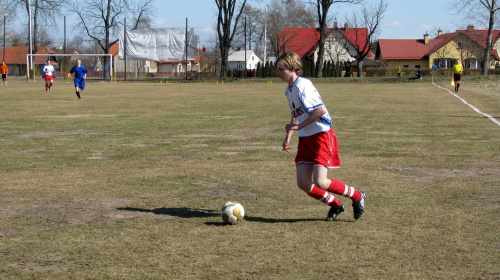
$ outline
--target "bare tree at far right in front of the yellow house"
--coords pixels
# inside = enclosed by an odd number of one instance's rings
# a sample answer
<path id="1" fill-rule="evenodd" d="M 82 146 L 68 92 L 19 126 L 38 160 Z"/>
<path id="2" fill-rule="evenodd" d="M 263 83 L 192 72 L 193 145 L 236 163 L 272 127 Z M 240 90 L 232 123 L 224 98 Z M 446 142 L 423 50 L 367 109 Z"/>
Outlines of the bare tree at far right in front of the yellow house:
<path id="1" fill-rule="evenodd" d="M 452 7 L 455 8 L 457 13 L 464 14 L 467 20 L 472 19 L 488 28 L 482 62 L 482 74 L 488 75 L 490 53 L 493 49 L 491 38 L 495 29 L 495 22 L 498 21 L 499 2 L 497 0 L 454 0 Z"/>

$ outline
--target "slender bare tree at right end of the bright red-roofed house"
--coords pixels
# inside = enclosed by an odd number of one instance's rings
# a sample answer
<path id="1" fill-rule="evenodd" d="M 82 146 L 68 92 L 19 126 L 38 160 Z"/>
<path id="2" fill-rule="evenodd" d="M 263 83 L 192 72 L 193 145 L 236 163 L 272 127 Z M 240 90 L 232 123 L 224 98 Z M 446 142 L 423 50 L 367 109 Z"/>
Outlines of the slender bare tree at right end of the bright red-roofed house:
<path id="1" fill-rule="evenodd" d="M 380 23 L 387 10 L 387 5 L 386 0 L 380 0 L 378 4 L 363 6 L 361 12 L 354 13 L 352 16 L 352 27 L 357 28 L 346 32 L 358 33 L 354 36 L 355 40 L 352 42 L 356 49 L 354 58 L 358 62 L 358 77 L 363 76 L 363 60 L 370 54 L 372 44 L 376 41 L 380 33 Z M 364 28 L 367 29 L 367 33 L 362 31 L 365 30 Z"/>

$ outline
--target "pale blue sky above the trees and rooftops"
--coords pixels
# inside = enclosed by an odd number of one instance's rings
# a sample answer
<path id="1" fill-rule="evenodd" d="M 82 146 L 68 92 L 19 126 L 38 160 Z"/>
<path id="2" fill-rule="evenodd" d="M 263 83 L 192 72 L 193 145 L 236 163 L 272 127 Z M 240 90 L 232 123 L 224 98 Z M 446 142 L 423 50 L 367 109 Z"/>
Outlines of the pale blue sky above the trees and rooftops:
<path id="1" fill-rule="evenodd" d="M 306 0 L 303 0 L 304 2 Z M 376 4 L 379 0 L 365 0 Z M 449 0 L 387 0 L 390 4 L 384 15 L 380 39 L 421 39 L 427 32 L 436 36 L 441 28 L 445 33 L 465 28 L 470 22 L 457 19 L 449 9 Z M 265 0 L 257 3 L 248 0 L 248 4 L 263 7 Z M 270 0 L 269 0 L 270 2 Z M 184 27 L 188 25 L 202 39 L 210 37 L 216 23 L 216 5 L 213 0 L 155 0 L 157 27 Z M 335 4 L 330 16 L 337 18 L 343 25 L 347 15 L 361 7 Z"/>

